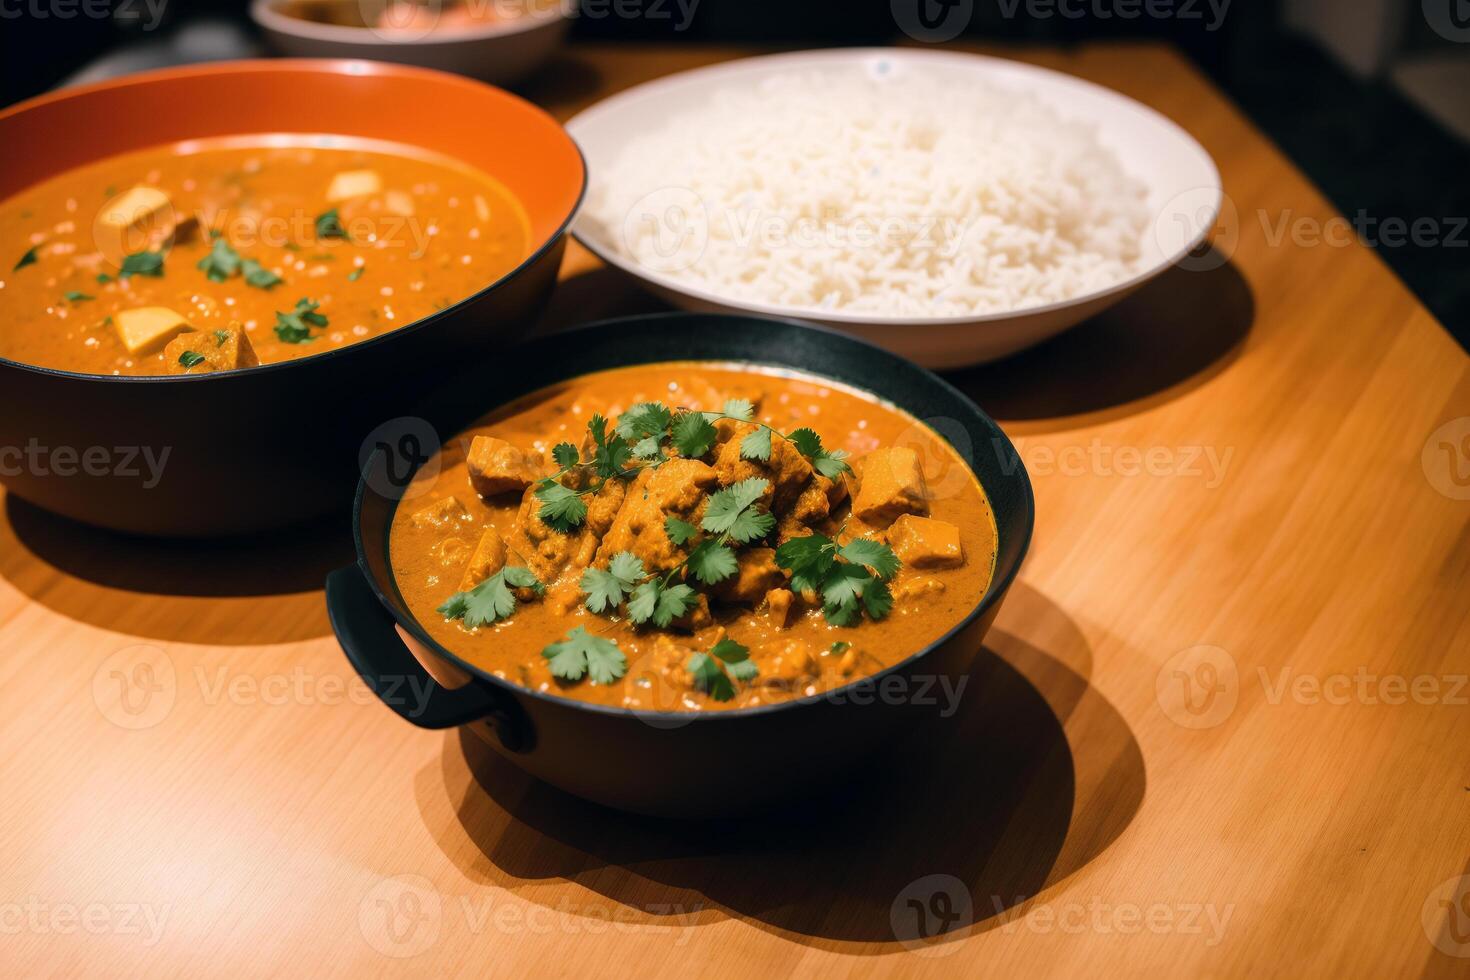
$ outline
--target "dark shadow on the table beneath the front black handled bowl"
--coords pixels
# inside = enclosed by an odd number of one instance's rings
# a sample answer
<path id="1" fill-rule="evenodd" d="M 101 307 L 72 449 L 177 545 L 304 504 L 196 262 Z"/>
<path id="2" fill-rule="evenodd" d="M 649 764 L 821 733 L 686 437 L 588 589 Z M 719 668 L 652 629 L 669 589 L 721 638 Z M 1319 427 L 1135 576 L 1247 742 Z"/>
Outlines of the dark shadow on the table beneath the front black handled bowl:
<path id="1" fill-rule="evenodd" d="M 954 717 L 839 798 L 728 823 L 635 817 L 525 776 L 463 729 L 420 773 L 420 813 L 470 879 L 551 914 L 645 932 L 734 917 L 844 952 L 983 932 L 1101 854 L 1147 782 L 1076 626 L 1020 583 L 1001 619 L 1023 635 L 992 630 Z M 760 763 L 731 746 L 711 764 L 754 780 Z"/>

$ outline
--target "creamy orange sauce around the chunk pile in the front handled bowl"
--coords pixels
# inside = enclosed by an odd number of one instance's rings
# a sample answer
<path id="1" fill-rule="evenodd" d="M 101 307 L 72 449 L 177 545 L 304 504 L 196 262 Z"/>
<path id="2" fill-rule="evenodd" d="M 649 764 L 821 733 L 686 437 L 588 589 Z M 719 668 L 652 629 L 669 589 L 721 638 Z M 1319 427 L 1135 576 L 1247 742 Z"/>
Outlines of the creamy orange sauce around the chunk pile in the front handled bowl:
<path id="1" fill-rule="evenodd" d="M 958 527 L 964 564 L 935 570 L 901 569 L 891 582 L 895 604 L 889 617 L 881 621 L 864 619 L 853 627 L 831 626 L 820 608 L 800 602 L 785 629 L 778 627 L 770 611 L 760 608 L 759 602 L 711 604 L 713 623 L 692 632 L 634 627 L 626 620 L 594 616 L 581 605 L 576 585 L 581 567 L 567 569 L 560 582 L 547 582 L 545 598 L 522 601 L 512 619 L 492 626 L 467 630 L 459 621 L 445 621 L 435 611 L 460 589 L 481 533 L 494 527 L 509 541 L 517 519 L 526 519 L 522 494 L 482 500 L 472 489 L 466 455 L 473 436 L 495 435 L 548 457 L 559 442 L 581 442 L 594 411 L 616 419 L 629 406 L 644 401 L 716 411 L 729 398 L 757 401 L 757 420 L 782 432 L 810 426 L 823 436 L 828 448 L 845 448 L 856 470 L 854 488 L 863 478 L 867 454 L 895 445 L 914 450 L 929 489 L 928 516 Z M 531 486 L 526 494 L 534 489 Z M 453 439 L 420 473 L 409 494 L 394 516 L 391 561 L 400 592 L 429 635 L 498 677 L 604 705 L 736 708 L 841 686 L 904 660 L 953 629 L 985 594 L 995 564 L 995 519 L 985 494 L 954 448 L 932 429 L 892 406 L 851 389 L 801 375 L 739 366 L 667 363 L 619 369 L 537 392 Z M 463 517 L 445 523 L 422 522 L 423 514 L 437 513 L 450 497 L 463 504 Z M 850 513 L 850 505 L 851 500 L 828 520 L 817 522 L 813 530 L 839 541 L 885 533 L 886 522 L 866 525 Z M 535 520 L 534 516 L 531 519 Z M 775 541 L 773 533 L 769 544 Z M 507 564 L 526 563 L 512 554 Z M 606 567 L 606 561 L 603 564 Z M 607 686 L 587 679 L 567 683 L 553 677 L 541 651 L 573 626 L 585 626 L 616 641 L 626 655 L 628 674 Z M 692 651 L 710 649 L 722 635 L 751 649 L 760 676 L 741 685 L 732 701 L 719 704 L 689 686 L 684 661 Z M 832 649 L 839 641 L 851 644 L 853 655 L 845 664 L 845 651 Z M 791 670 L 794 644 L 813 658 L 814 670 L 808 674 L 798 676 Z"/>

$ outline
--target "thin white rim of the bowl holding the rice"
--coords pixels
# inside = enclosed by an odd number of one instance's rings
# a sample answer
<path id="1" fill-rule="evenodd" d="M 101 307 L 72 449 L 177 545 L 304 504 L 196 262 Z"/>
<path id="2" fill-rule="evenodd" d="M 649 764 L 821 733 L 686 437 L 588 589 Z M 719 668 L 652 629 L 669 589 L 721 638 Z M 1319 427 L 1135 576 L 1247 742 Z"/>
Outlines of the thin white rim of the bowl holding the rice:
<path id="1" fill-rule="evenodd" d="M 257 0 L 265 3 L 268 0 Z M 572 134 L 576 140 L 578 123 L 587 123 L 587 120 L 595 116 L 606 115 L 609 112 L 616 112 L 622 107 L 622 103 L 632 101 L 637 97 L 647 96 L 650 91 L 659 88 L 676 88 L 679 84 L 689 81 L 694 76 L 701 79 L 719 76 L 719 75 L 739 75 L 742 72 L 759 71 L 763 68 L 778 68 L 782 62 L 850 62 L 850 60 L 864 60 L 873 57 L 892 57 L 900 60 L 931 60 L 931 62 L 950 62 L 950 63 L 967 63 L 975 65 L 976 62 L 991 62 L 995 65 L 1005 65 L 1008 68 L 1020 68 L 1038 75 L 1050 75 L 1061 84 L 1078 85 L 1083 88 L 1091 88 L 1095 93 L 1127 103 L 1133 109 L 1142 112 L 1152 122 L 1158 123 L 1161 128 L 1172 131 L 1180 141 L 1191 145 L 1198 151 L 1200 159 L 1210 167 L 1211 181 L 1208 187 L 1201 187 L 1198 190 L 1213 191 L 1214 197 L 1210 201 L 1208 220 L 1200 223 L 1200 231 L 1188 239 L 1182 247 L 1176 248 L 1173 253 L 1164 256 L 1161 260 L 1150 264 L 1147 269 L 1136 272 L 1127 279 L 1114 282 L 1113 285 L 1104 287 L 1101 289 L 1094 289 L 1091 292 L 1083 292 L 1080 295 L 1072 297 L 1070 300 L 1058 300 L 1055 303 L 1048 303 L 1045 306 L 1025 306 L 1013 307 L 1010 310 L 1001 310 L 997 313 L 958 313 L 954 316 L 928 316 L 928 317 L 906 317 L 906 316 L 873 316 L 864 313 L 844 313 L 841 310 L 823 310 L 819 307 L 804 307 L 804 306 L 779 306 L 773 303 L 759 303 L 753 300 L 741 300 L 736 297 L 720 295 L 700 287 L 685 284 L 673 276 L 662 272 L 641 266 L 632 259 L 616 253 L 591 235 L 584 232 L 582 219 L 587 209 L 587 200 L 582 201 L 582 212 L 572 219 L 572 237 L 588 251 L 595 254 L 604 263 L 622 269 L 628 275 L 644 279 L 657 285 L 669 292 L 678 292 L 701 303 L 719 307 L 723 310 L 739 310 L 744 313 L 757 313 L 763 316 L 778 316 L 778 317 L 797 317 L 803 320 L 816 320 L 820 323 L 853 323 L 858 326 L 969 326 L 973 323 L 992 323 L 1000 320 L 1014 320 L 1019 317 L 1041 316 L 1044 313 L 1053 313 L 1057 310 L 1067 310 L 1078 306 L 1097 303 L 1114 294 L 1125 294 L 1136 289 L 1150 279 L 1167 272 L 1175 264 L 1177 264 L 1185 256 L 1200 247 L 1200 244 L 1208 238 L 1210 232 L 1214 229 L 1216 222 L 1220 217 L 1220 209 L 1225 201 L 1225 185 L 1220 179 L 1220 167 L 1216 165 L 1214 157 L 1200 145 L 1189 132 L 1180 126 L 1177 122 L 1163 115 L 1151 106 L 1125 96 L 1123 93 L 1108 88 L 1107 85 L 1100 85 L 1097 82 L 1088 81 L 1085 78 L 1078 78 L 1076 75 L 1069 75 L 1066 72 L 1058 72 L 1051 68 L 1042 68 L 1039 65 L 1030 65 L 1028 62 L 1017 62 L 1008 57 L 995 57 L 992 54 L 972 54 L 967 51 L 938 51 L 928 48 L 907 48 L 907 47 L 841 47 L 841 48 L 817 48 L 806 51 L 785 51 L 781 54 L 760 54 L 757 57 L 742 57 L 732 62 L 719 62 L 716 65 L 706 65 L 703 68 L 692 68 L 684 72 L 676 72 L 673 75 L 664 75 L 663 78 L 654 78 L 651 81 L 626 88 L 614 96 L 609 96 L 601 101 L 588 106 L 582 112 L 572 116 L 564 125 L 566 131 Z M 581 141 L 578 141 L 581 145 Z M 594 173 L 592 181 L 595 182 L 595 163 L 582 145 L 582 157 L 588 162 L 588 170 Z"/>

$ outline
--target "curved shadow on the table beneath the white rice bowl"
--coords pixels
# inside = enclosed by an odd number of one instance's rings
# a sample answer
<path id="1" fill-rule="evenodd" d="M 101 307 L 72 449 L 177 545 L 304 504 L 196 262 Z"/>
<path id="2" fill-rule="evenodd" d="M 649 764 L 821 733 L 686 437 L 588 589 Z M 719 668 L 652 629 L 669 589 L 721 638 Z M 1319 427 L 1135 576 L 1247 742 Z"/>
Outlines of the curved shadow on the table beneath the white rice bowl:
<path id="1" fill-rule="evenodd" d="M 1251 287 L 1216 269 L 1175 267 L 1041 347 L 947 378 L 1008 430 L 1047 432 L 1130 416 L 1225 370 L 1255 320 Z"/>

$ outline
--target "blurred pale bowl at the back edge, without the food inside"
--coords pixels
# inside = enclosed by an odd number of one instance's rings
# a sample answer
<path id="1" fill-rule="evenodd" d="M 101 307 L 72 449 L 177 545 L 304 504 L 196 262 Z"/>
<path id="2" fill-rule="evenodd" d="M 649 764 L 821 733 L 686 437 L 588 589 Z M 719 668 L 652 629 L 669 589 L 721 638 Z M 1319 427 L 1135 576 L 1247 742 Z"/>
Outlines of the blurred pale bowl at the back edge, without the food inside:
<path id="1" fill-rule="evenodd" d="M 438 68 L 494 84 L 525 78 L 557 48 L 570 21 L 557 3 L 539 13 L 475 28 L 431 29 L 420 37 L 318 24 L 281 13 L 279 0 L 254 0 L 250 16 L 290 57 L 345 57 Z M 466 120 L 473 125 L 473 120 Z"/>

